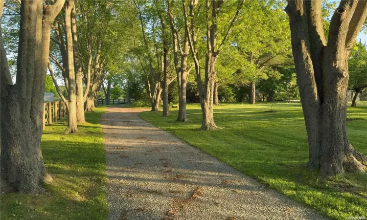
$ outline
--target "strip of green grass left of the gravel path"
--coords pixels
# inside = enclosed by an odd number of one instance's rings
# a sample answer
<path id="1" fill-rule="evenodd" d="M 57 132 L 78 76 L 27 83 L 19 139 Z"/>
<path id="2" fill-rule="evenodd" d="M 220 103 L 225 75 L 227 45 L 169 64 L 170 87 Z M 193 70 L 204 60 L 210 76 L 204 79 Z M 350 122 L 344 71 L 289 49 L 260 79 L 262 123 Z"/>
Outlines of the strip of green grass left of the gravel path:
<path id="1" fill-rule="evenodd" d="M 79 133 L 63 134 L 66 122 L 46 126 L 42 154 L 46 170 L 53 177 L 45 188 L 49 195 L 1 195 L 3 220 L 99 220 L 107 219 L 106 159 L 103 132 L 99 124 L 105 108 L 86 112 L 89 123 Z"/>

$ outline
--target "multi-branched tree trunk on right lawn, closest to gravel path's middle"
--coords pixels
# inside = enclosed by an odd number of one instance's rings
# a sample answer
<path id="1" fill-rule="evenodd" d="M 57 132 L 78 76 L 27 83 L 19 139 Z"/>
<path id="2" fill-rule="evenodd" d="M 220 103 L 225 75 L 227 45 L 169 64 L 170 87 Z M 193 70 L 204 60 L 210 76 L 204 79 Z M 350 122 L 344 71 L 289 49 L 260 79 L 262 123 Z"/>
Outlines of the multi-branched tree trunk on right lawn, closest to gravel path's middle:
<path id="1" fill-rule="evenodd" d="M 199 90 L 200 104 L 202 109 L 202 126 L 201 130 L 216 129 L 213 117 L 213 92 L 215 83 L 215 63 L 218 59 L 221 47 L 225 44 L 233 24 L 236 22 L 238 14 L 242 8 L 243 0 L 237 2 L 237 10 L 229 22 L 229 27 L 225 32 L 219 46 L 217 40 L 218 15 L 221 11 L 223 0 L 206 0 L 206 59 L 205 59 L 205 76 L 204 82 L 200 73 L 200 63 L 198 59 L 198 47 L 196 36 L 195 13 L 198 0 L 191 0 L 189 5 L 189 13 L 187 13 L 186 2 L 183 0 L 185 29 L 189 33 L 188 40 L 191 49 L 191 54 L 195 64 L 195 72 Z"/>

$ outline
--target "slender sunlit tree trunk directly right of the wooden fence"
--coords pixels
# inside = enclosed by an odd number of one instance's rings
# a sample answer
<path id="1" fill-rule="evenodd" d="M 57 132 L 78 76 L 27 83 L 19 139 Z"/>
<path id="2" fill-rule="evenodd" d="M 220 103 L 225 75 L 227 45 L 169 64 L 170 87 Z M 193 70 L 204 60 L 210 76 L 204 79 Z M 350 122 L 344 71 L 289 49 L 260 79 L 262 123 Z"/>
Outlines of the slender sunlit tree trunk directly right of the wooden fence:
<path id="1" fill-rule="evenodd" d="M 74 71 L 74 55 L 73 55 L 73 45 L 72 45 L 72 31 L 71 31 L 71 12 L 73 10 L 75 2 L 69 0 L 65 6 L 65 30 L 66 30 L 66 47 L 67 47 L 67 57 L 68 57 L 68 79 L 69 79 L 69 114 L 68 114 L 68 127 L 65 133 L 76 133 L 77 128 L 77 118 L 76 118 L 76 83 L 75 83 L 75 71 Z"/>

